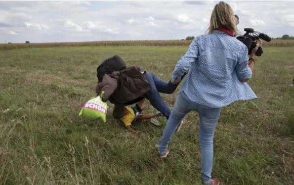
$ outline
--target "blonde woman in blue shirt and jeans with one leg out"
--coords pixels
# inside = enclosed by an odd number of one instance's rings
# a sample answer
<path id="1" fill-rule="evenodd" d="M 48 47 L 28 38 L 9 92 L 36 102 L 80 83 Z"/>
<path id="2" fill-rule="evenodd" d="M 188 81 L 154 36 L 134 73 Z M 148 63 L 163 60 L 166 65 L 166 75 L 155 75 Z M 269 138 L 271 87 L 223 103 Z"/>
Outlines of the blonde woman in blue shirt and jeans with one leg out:
<path id="1" fill-rule="evenodd" d="M 208 34 L 197 36 L 186 54 L 178 61 L 172 75 L 177 83 L 189 68 L 180 93 L 159 142 L 159 157 L 167 157 L 173 134 L 181 120 L 190 111 L 199 113 L 199 142 L 201 149 L 201 176 L 203 184 L 219 184 L 212 178 L 213 138 L 221 108 L 235 101 L 256 99 L 246 83 L 252 76 L 255 53 L 248 60 L 245 44 L 234 37 L 235 17 L 232 8 L 217 4 L 212 12 Z"/>

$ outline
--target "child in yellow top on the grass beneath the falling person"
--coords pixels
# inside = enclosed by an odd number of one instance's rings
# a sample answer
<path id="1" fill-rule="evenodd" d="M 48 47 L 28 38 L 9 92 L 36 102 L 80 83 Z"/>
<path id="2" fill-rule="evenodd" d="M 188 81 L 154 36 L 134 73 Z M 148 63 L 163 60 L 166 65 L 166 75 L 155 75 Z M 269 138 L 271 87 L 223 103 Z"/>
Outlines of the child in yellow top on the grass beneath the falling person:
<path id="1" fill-rule="evenodd" d="M 145 98 L 135 104 L 133 107 L 124 107 L 124 106 L 115 106 L 113 110 L 113 117 L 115 119 L 120 119 L 124 126 L 132 133 L 139 134 L 142 133 L 139 130 L 135 130 L 132 127 L 132 123 L 134 121 L 142 121 L 144 119 L 151 119 L 153 117 L 163 116 L 160 112 L 157 112 L 155 114 L 141 114 Z"/>

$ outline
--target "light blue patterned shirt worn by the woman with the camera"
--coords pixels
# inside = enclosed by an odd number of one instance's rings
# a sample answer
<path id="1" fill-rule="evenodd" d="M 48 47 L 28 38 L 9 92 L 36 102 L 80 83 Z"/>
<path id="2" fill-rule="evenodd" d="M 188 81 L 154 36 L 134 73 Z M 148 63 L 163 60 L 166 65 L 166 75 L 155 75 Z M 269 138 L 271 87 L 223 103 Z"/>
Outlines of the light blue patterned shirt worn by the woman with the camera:
<path id="1" fill-rule="evenodd" d="M 252 71 L 248 49 L 235 37 L 219 30 L 194 38 L 181 57 L 172 80 L 179 80 L 189 70 L 180 91 L 195 103 L 221 108 L 235 101 L 257 99 L 246 82 Z"/>

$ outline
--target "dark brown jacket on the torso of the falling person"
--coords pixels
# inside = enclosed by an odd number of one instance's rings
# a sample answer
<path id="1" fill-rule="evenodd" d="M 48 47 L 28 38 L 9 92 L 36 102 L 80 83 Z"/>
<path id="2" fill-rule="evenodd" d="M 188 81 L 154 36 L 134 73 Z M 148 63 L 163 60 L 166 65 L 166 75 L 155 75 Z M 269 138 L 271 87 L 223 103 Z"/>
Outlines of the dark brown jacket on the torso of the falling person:
<path id="1" fill-rule="evenodd" d="M 140 100 L 147 91 L 151 90 L 151 86 L 141 73 L 140 68 L 135 66 L 105 74 L 97 87 L 100 91 L 104 91 L 103 102 L 109 99 L 111 103 L 116 105 L 127 105 L 130 102 Z"/>

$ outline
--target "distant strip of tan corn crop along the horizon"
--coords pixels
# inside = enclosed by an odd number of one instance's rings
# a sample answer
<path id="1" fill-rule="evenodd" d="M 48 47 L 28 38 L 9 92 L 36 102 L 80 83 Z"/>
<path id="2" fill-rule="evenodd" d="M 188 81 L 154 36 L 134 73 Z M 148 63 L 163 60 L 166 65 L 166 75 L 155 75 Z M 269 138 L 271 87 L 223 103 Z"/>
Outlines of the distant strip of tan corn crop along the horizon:
<path id="1" fill-rule="evenodd" d="M 93 41 L 93 42 L 52 42 L 52 43 L 8 43 L 0 44 L 0 51 L 27 48 L 50 48 L 50 47 L 98 47 L 98 46 L 188 46 L 191 40 L 128 40 L 128 41 Z M 265 47 L 292 47 L 294 40 L 273 39 L 271 42 L 264 41 Z"/>

